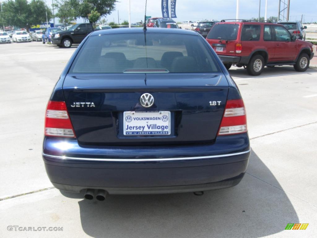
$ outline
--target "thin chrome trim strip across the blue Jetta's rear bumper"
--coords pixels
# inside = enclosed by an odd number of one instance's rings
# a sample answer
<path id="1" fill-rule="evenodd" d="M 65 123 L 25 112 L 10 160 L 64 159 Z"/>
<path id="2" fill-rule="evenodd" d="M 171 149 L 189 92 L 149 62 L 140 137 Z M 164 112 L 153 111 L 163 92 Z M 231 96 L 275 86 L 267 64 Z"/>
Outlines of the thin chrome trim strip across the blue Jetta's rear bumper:
<path id="1" fill-rule="evenodd" d="M 156 158 L 156 159 L 102 159 L 102 158 L 77 158 L 77 157 L 68 157 L 68 156 L 59 156 L 59 155 L 47 155 L 42 153 L 43 156 L 61 159 L 61 160 L 85 160 L 85 161 L 107 161 L 107 162 L 161 162 L 161 161 L 177 161 L 177 160 L 198 160 L 198 159 L 211 159 L 211 158 L 221 158 L 229 157 L 235 155 L 247 154 L 251 149 L 243 152 L 233 153 L 233 154 L 224 154 L 224 155 L 209 155 L 209 156 L 196 156 L 196 157 L 180 157 L 180 158 Z"/>

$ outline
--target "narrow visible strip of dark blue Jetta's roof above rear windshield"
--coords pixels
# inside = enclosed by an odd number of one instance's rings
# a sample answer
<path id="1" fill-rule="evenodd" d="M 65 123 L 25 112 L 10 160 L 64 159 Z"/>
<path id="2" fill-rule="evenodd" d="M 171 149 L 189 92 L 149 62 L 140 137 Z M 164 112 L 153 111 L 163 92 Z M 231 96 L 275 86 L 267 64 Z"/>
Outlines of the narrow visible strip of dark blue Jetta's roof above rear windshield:
<path id="1" fill-rule="evenodd" d="M 99 36 L 99 35 L 111 35 L 111 34 L 135 34 L 135 33 L 144 33 L 142 27 L 134 28 L 116 28 L 112 30 L 98 30 L 93 31 L 90 36 Z M 157 34 L 180 34 L 180 35 L 193 35 L 199 36 L 199 33 L 193 30 L 183 30 L 183 29 L 167 29 L 159 27 L 148 27 L 146 28 L 146 33 L 157 33 Z"/>

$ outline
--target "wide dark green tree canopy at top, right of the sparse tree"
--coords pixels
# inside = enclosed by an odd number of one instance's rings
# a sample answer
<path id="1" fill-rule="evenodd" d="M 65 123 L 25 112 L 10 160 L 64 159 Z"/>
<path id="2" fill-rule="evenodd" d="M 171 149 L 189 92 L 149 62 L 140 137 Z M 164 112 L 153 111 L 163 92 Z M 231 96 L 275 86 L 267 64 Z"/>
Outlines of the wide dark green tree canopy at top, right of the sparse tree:
<path id="1" fill-rule="evenodd" d="M 91 11 L 97 11 L 100 16 L 106 16 L 115 8 L 117 0 L 69 0 L 76 17 L 88 19 Z"/>

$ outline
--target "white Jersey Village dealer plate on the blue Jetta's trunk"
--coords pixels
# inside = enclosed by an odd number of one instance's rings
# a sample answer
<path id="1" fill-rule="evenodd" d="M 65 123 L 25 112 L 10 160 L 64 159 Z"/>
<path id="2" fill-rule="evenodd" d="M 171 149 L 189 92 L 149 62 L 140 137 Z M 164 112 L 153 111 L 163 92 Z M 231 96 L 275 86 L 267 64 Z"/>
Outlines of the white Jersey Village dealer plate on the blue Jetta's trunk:
<path id="1" fill-rule="evenodd" d="M 123 135 L 171 135 L 171 112 L 124 112 Z"/>

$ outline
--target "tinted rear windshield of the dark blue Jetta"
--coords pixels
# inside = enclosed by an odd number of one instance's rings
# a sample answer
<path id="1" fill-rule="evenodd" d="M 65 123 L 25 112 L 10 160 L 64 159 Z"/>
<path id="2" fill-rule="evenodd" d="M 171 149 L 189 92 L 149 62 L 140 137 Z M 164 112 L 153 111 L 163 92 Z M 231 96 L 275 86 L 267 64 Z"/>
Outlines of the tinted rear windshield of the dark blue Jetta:
<path id="1" fill-rule="evenodd" d="M 70 73 L 220 72 L 201 37 L 181 34 L 90 36 Z"/>

